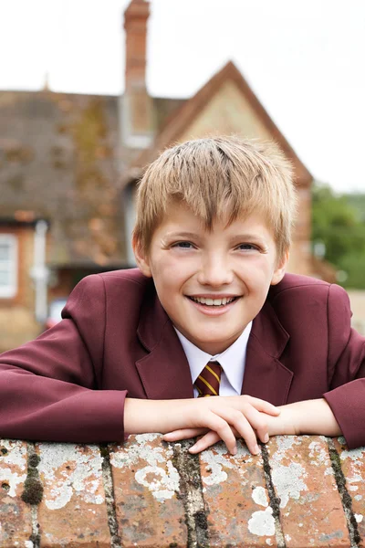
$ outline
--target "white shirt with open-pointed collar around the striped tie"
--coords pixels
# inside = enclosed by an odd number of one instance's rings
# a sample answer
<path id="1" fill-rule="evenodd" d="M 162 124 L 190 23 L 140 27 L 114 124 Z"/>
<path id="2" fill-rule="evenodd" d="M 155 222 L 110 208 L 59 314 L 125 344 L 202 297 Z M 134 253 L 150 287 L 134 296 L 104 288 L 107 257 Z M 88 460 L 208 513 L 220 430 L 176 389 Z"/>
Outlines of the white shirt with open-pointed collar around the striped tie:
<path id="1" fill-rule="evenodd" d="M 245 354 L 251 328 L 252 321 L 249 322 L 245 331 L 241 333 L 231 346 L 224 350 L 223 353 L 215 354 L 214 356 L 203 352 L 203 350 L 195 346 L 193 342 L 188 341 L 181 332 L 174 328 L 183 345 L 183 352 L 190 367 L 193 384 L 208 362 L 219 362 L 223 369 L 219 395 L 241 395 L 245 374 Z M 197 397 L 197 395 L 198 390 L 194 386 L 194 396 Z"/>

